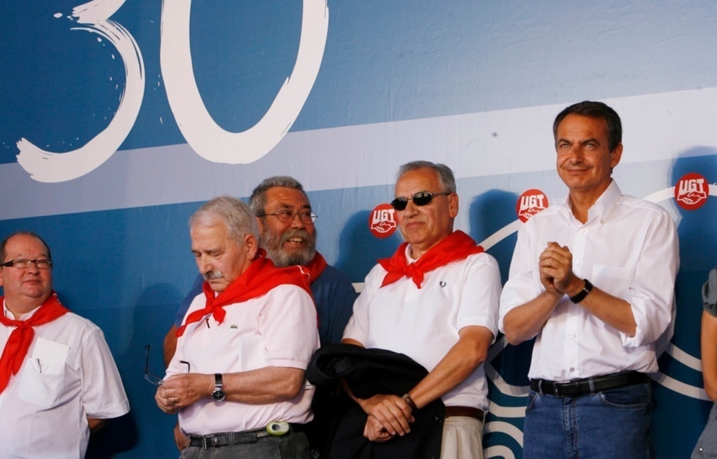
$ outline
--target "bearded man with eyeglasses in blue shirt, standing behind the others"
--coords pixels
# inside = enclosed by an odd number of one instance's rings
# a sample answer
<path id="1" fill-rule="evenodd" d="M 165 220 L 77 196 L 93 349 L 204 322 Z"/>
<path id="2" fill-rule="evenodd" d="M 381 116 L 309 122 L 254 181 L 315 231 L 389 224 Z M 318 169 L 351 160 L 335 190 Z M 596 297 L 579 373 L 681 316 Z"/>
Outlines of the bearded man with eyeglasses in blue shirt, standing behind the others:
<path id="1" fill-rule="evenodd" d="M 351 318 L 356 290 L 351 281 L 340 270 L 326 263 L 316 250 L 316 214 L 311 212 L 311 204 L 303 186 L 289 176 L 272 176 L 263 180 L 252 191 L 249 207 L 257 217 L 259 224 L 259 246 L 267 251 L 267 257 L 277 268 L 292 265 L 304 266 L 309 274 L 311 293 L 318 313 L 318 331 L 321 345 L 336 344 L 341 341 L 343 328 Z M 164 359 L 168 365 L 176 349 L 176 331 L 181 326 L 189 304 L 201 294 L 204 278 L 200 274 L 194 280 L 191 290 L 182 300 L 177 311 L 174 326 L 164 339 Z M 322 412 L 322 401 L 328 397 L 319 389 L 315 394 L 313 410 Z M 317 420 L 320 422 L 320 419 Z M 320 425 L 310 425 L 308 430 L 312 446 L 319 450 L 323 447 L 323 435 Z M 175 428 L 174 437 L 181 450 L 186 446 L 186 437 Z"/>

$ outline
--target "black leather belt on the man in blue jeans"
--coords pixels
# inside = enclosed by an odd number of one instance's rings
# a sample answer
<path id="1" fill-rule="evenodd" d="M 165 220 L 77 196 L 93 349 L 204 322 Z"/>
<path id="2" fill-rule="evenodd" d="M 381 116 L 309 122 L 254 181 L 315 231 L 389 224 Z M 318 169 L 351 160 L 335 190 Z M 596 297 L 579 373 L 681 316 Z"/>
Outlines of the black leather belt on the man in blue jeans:
<path id="1" fill-rule="evenodd" d="M 531 389 L 542 395 L 556 397 L 580 397 L 596 394 L 609 389 L 633 386 L 650 382 L 650 376 L 640 372 L 619 372 L 592 378 L 574 379 L 567 382 L 555 382 L 547 379 L 531 379 Z"/>

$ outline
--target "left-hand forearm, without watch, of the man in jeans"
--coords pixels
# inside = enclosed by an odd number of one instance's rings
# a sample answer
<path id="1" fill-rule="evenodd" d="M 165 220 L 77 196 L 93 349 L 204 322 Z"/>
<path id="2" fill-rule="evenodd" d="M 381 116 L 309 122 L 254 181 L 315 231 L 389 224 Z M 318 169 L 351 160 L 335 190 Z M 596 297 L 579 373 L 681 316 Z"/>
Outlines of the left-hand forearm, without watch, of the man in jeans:
<path id="1" fill-rule="evenodd" d="M 510 344 L 518 345 L 536 336 L 553 313 L 563 294 L 543 290 L 532 301 L 512 309 L 503 318 L 505 338 Z"/>

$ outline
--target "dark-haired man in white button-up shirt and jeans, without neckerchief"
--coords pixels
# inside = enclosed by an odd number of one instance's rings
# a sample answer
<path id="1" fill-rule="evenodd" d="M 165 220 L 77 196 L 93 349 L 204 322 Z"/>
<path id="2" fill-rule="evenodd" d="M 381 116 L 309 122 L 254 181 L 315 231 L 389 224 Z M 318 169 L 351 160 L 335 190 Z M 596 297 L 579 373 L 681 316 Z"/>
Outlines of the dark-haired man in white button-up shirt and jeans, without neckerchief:
<path id="1" fill-rule="evenodd" d="M 622 194 L 622 123 L 602 102 L 553 123 L 562 204 L 518 231 L 500 328 L 535 338 L 523 458 L 650 458 L 650 373 L 672 320 L 678 236 L 670 214 Z"/>

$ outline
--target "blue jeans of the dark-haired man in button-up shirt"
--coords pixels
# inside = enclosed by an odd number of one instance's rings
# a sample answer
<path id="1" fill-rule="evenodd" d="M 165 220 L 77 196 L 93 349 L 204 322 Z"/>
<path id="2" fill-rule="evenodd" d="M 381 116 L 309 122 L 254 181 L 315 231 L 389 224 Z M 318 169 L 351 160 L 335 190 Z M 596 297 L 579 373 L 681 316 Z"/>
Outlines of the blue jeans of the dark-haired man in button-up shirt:
<path id="1" fill-rule="evenodd" d="M 653 458 L 650 384 L 581 397 L 528 392 L 523 459 Z"/>

